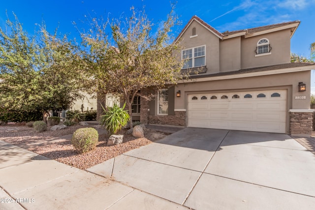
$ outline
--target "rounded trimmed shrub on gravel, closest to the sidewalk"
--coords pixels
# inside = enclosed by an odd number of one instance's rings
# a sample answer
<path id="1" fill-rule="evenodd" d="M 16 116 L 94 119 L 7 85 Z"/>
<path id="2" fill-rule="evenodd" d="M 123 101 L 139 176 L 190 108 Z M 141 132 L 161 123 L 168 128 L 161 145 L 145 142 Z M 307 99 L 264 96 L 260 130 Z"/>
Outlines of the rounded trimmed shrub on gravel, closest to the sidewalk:
<path id="1" fill-rule="evenodd" d="M 71 144 L 79 153 L 94 150 L 98 142 L 98 133 L 95 128 L 86 127 L 77 129 L 72 136 Z"/>

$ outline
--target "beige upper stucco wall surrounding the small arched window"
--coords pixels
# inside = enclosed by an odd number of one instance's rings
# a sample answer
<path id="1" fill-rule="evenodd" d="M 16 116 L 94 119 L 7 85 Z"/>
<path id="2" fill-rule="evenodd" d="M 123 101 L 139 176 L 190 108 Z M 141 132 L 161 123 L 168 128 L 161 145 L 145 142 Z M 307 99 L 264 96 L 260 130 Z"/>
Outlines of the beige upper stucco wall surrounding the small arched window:
<path id="1" fill-rule="evenodd" d="M 271 55 L 255 57 L 257 42 L 267 38 L 272 47 Z M 268 34 L 242 38 L 241 68 L 253 68 L 266 65 L 276 65 L 290 62 L 290 29 Z"/>

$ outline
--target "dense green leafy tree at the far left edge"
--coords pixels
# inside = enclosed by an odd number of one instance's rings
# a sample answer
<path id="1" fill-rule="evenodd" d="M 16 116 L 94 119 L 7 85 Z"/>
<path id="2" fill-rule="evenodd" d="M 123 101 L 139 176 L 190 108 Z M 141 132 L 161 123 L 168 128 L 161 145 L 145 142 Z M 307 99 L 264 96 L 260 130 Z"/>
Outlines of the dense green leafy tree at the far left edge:
<path id="1" fill-rule="evenodd" d="M 15 15 L 14 15 L 15 16 Z M 0 104 L 25 112 L 65 109 L 82 96 L 84 72 L 73 41 L 50 34 L 45 25 L 29 35 L 15 16 L 0 28 Z"/>

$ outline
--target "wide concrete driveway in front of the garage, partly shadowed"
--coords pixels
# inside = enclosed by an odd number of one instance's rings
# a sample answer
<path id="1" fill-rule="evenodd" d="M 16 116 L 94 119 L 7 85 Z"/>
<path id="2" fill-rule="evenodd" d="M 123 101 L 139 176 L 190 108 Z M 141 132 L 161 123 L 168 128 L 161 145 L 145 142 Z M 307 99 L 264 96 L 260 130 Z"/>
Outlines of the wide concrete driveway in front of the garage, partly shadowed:
<path id="1" fill-rule="evenodd" d="M 315 207 L 315 155 L 286 134 L 185 128 L 88 171 L 197 210 Z"/>

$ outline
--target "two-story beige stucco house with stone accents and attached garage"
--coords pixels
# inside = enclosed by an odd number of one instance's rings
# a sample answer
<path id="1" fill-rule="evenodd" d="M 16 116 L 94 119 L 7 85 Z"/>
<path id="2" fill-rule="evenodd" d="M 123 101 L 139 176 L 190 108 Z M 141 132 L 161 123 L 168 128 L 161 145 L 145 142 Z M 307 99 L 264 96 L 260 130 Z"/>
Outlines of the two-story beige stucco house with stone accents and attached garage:
<path id="1" fill-rule="evenodd" d="M 190 80 L 141 104 L 140 121 L 187 127 L 309 136 L 312 63 L 290 62 L 300 21 L 252 29 L 215 30 L 193 16 L 176 38 Z"/>

